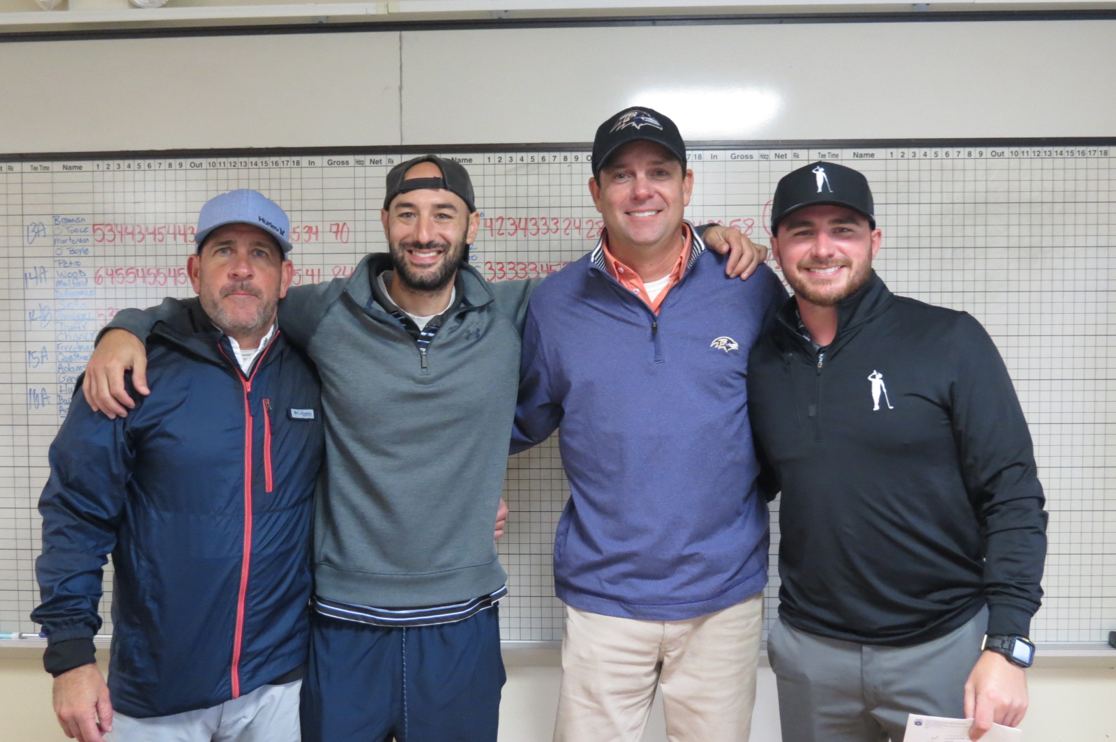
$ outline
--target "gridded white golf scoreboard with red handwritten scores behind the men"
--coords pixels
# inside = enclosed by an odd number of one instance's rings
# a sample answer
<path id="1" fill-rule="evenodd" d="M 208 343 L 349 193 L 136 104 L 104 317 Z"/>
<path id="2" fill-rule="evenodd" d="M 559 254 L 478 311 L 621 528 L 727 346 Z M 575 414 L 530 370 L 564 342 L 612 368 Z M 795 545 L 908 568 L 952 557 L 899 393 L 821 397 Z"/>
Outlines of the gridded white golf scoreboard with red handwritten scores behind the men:
<path id="1" fill-rule="evenodd" d="M 1116 145 L 1116 142 L 1109 143 Z M 1099 642 L 1116 627 L 1113 350 L 1116 146 L 693 146 L 695 222 L 759 240 L 778 179 L 816 158 L 873 184 L 891 289 L 972 312 L 995 339 L 1031 425 L 1050 511 L 1039 642 Z M 384 176 L 416 152 L 321 151 L 0 161 L 0 630 L 33 632 L 38 492 L 47 447 L 96 330 L 119 308 L 191 293 L 184 266 L 201 204 L 258 189 L 291 216 L 296 282 L 345 276 L 383 250 Z M 500 280 L 545 276 L 590 250 L 587 147 L 459 148 L 477 187 L 471 259 Z M 555 442 L 509 460 L 512 515 L 503 638 L 561 637 L 550 569 L 568 492 Z M 775 615 L 778 503 L 768 618 Z M 107 606 L 103 606 L 107 616 Z M 106 628 L 110 630 L 110 626 Z"/>

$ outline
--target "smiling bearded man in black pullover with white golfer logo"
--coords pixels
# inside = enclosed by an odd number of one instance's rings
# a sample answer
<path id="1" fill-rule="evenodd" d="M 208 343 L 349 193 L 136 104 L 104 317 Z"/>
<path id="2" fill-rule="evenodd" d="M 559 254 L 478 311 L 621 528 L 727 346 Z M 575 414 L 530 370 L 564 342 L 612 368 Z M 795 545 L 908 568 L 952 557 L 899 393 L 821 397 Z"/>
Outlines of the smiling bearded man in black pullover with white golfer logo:
<path id="1" fill-rule="evenodd" d="M 771 247 L 795 297 L 749 359 L 780 505 L 768 639 L 785 742 L 901 742 L 908 714 L 1014 726 L 1046 513 L 1027 422 L 971 316 L 892 295 L 864 175 L 786 175 Z"/>

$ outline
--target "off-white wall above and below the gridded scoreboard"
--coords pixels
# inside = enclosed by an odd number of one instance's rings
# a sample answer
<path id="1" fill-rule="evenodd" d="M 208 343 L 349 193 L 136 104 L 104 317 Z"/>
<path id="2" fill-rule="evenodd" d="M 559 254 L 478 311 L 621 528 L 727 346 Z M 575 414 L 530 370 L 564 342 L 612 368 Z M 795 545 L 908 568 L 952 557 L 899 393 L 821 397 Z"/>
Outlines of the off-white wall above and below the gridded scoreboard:
<path id="1" fill-rule="evenodd" d="M 7 42 L 0 153 L 587 142 L 635 100 L 691 141 L 1106 136 L 1113 48 L 1116 21 Z M 62 739 L 36 655 L 0 649 L 0 742 Z M 554 655 L 510 663 L 501 739 L 549 739 Z M 1116 671 L 1030 677 L 1029 742 L 1114 734 Z M 764 669 L 757 742 L 773 698 Z"/>

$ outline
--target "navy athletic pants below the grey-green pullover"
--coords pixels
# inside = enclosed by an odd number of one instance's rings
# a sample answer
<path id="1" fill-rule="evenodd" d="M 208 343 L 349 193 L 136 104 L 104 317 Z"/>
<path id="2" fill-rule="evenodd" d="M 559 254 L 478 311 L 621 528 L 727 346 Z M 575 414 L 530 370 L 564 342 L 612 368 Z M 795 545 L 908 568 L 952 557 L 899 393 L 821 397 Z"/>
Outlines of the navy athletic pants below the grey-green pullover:
<path id="1" fill-rule="evenodd" d="M 496 742 L 506 676 L 494 606 L 414 628 L 312 621 L 302 742 Z"/>

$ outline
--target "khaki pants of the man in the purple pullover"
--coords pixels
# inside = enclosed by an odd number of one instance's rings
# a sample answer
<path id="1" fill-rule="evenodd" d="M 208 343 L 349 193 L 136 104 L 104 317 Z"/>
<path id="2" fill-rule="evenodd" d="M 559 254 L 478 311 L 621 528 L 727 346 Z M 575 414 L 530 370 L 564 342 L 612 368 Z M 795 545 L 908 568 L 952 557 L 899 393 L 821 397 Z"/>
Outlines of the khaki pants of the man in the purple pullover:
<path id="1" fill-rule="evenodd" d="M 567 606 L 555 742 L 638 742 L 656 686 L 671 742 L 747 742 L 762 628 L 762 594 L 685 620 Z"/>

